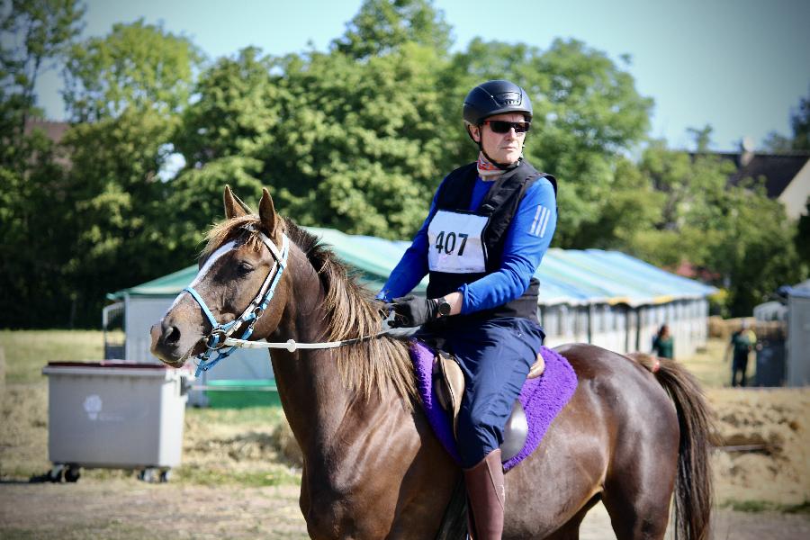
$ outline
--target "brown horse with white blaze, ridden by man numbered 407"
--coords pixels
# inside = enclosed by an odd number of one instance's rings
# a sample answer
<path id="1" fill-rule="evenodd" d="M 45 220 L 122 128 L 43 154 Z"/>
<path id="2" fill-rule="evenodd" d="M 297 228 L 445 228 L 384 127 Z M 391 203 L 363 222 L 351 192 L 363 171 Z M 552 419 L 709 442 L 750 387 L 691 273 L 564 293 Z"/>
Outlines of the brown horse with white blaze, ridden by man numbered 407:
<path id="1" fill-rule="evenodd" d="M 209 308 L 182 293 L 152 329 L 152 350 L 166 364 L 183 365 L 206 350 L 206 340 L 211 345 L 205 311 L 239 320 L 266 276 L 277 273 L 284 236 L 284 273 L 253 321 L 252 338 L 323 342 L 379 330 L 371 293 L 318 238 L 280 219 L 266 190 L 253 215 L 226 188 L 225 213 L 193 284 Z M 579 386 L 536 452 L 507 473 L 503 537 L 577 538 L 601 500 L 619 539 L 662 538 L 674 490 L 677 537 L 707 538 L 709 418 L 697 383 L 671 361 L 653 370 L 590 345 L 558 350 Z M 310 536 L 436 537 L 461 471 L 419 408 L 407 344 L 383 336 L 279 350 L 272 364 L 302 448 Z"/>

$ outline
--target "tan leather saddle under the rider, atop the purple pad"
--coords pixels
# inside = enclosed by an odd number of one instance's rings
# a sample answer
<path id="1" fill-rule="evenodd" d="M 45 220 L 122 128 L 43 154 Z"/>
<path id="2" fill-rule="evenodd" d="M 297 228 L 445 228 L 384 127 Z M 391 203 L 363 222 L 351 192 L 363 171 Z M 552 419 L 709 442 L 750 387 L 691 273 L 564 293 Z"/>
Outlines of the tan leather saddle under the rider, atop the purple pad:
<path id="1" fill-rule="evenodd" d="M 538 353 L 535 364 L 529 369 L 527 380 L 536 379 L 545 371 L 545 360 L 543 355 Z M 458 439 L 458 413 L 461 410 L 462 399 L 464 398 L 464 373 L 458 365 L 454 356 L 445 351 L 437 349 L 436 357 L 433 361 L 433 388 L 437 395 L 437 401 L 442 409 L 446 410 L 453 424 L 453 435 Z M 509 415 L 504 427 L 504 440 L 500 446 L 501 461 L 508 462 L 518 455 L 526 444 L 528 436 L 528 422 L 526 411 L 520 400 L 515 401 L 512 412 Z"/>

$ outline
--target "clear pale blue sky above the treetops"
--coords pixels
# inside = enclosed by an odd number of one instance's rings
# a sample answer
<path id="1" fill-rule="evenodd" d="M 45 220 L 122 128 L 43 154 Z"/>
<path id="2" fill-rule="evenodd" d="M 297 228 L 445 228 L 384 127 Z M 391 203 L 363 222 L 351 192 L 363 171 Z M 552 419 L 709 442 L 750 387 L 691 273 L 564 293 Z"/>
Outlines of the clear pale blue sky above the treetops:
<path id="1" fill-rule="evenodd" d="M 89 0 L 84 36 L 143 17 L 191 38 L 210 58 L 254 45 L 284 54 L 327 49 L 361 0 Z M 476 36 L 545 49 L 576 38 L 603 50 L 653 97 L 651 135 L 689 148 L 689 127 L 714 127 L 716 149 L 790 133 L 789 114 L 810 94 L 810 0 L 436 0 L 455 49 Z M 40 78 L 40 105 L 64 116 L 58 73 Z"/>

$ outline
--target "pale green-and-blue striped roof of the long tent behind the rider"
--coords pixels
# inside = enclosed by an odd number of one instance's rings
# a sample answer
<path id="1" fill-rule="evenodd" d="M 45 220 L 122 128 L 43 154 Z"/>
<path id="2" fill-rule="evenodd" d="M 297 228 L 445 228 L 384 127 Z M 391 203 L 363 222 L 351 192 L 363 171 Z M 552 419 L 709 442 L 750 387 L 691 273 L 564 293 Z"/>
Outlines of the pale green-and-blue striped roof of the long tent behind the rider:
<path id="1" fill-rule="evenodd" d="M 358 279 L 372 291 L 379 291 L 410 242 L 368 236 L 347 235 L 335 229 L 308 227 L 332 246 L 338 257 L 358 273 Z M 158 277 L 145 284 L 108 294 L 110 300 L 125 296 L 168 296 L 179 294 L 192 282 L 197 266 Z M 714 287 L 671 274 L 618 251 L 560 249 L 553 247 L 536 273 L 540 280 L 541 305 L 626 303 L 631 306 L 703 298 Z M 416 293 L 424 293 L 423 279 Z"/>

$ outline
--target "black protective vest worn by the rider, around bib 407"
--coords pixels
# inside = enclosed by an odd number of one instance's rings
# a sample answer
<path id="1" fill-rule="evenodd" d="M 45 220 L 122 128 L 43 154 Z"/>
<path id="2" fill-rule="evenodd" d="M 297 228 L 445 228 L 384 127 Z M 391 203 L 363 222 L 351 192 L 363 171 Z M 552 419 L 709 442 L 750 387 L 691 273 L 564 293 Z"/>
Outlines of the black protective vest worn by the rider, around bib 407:
<path id="1" fill-rule="evenodd" d="M 478 169 L 475 163 L 461 166 L 447 175 L 441 191 L 437 196 L 437 210 L 460 211 L 469 213 L 470 201 L 473 197 L 473 186 L 478 177 Z M 531 166 L 525 159 L 522 159 L 518 166 L 507 171 L 495 180 L 495 184 L 490 188 L 478 210 L 472 213 L 489 218 L 486 227 L 482 232 L 482 241 L 486 254 L 486 272 L 471 274 L 451 274 L 446 272 L 431 271 L 428 283 L 428 298 L 438 298 L 449 293 L 455 293 L 463 284 L 472 284 L 481 279 L 484 275 L 489 275 L 500 269 L 500 261 L 503 256 L 503 244 L 506 239 L 506 232 L 509 223 L 518 211 L 518 205 L 523 199 L 527 188 L 536 182 L 538 178 L 547 178 L 554 186 L 554 194 L 557 193 L 557 181 L 552 175 L 539 173 L 534 166 Z M 469 315 L 456 315 L 446 320 L 452 320 L 453 324 L 461 323 L 467 319 L 492 319 L 495 317 L 522 317 L 537 322 L 537 294 L 540 290 L 540 282 L 533 276 L 529 281 L 528 288 L 522 296 L 511 302 L 507 302 L 491 310 L 476 311 Z"/>

